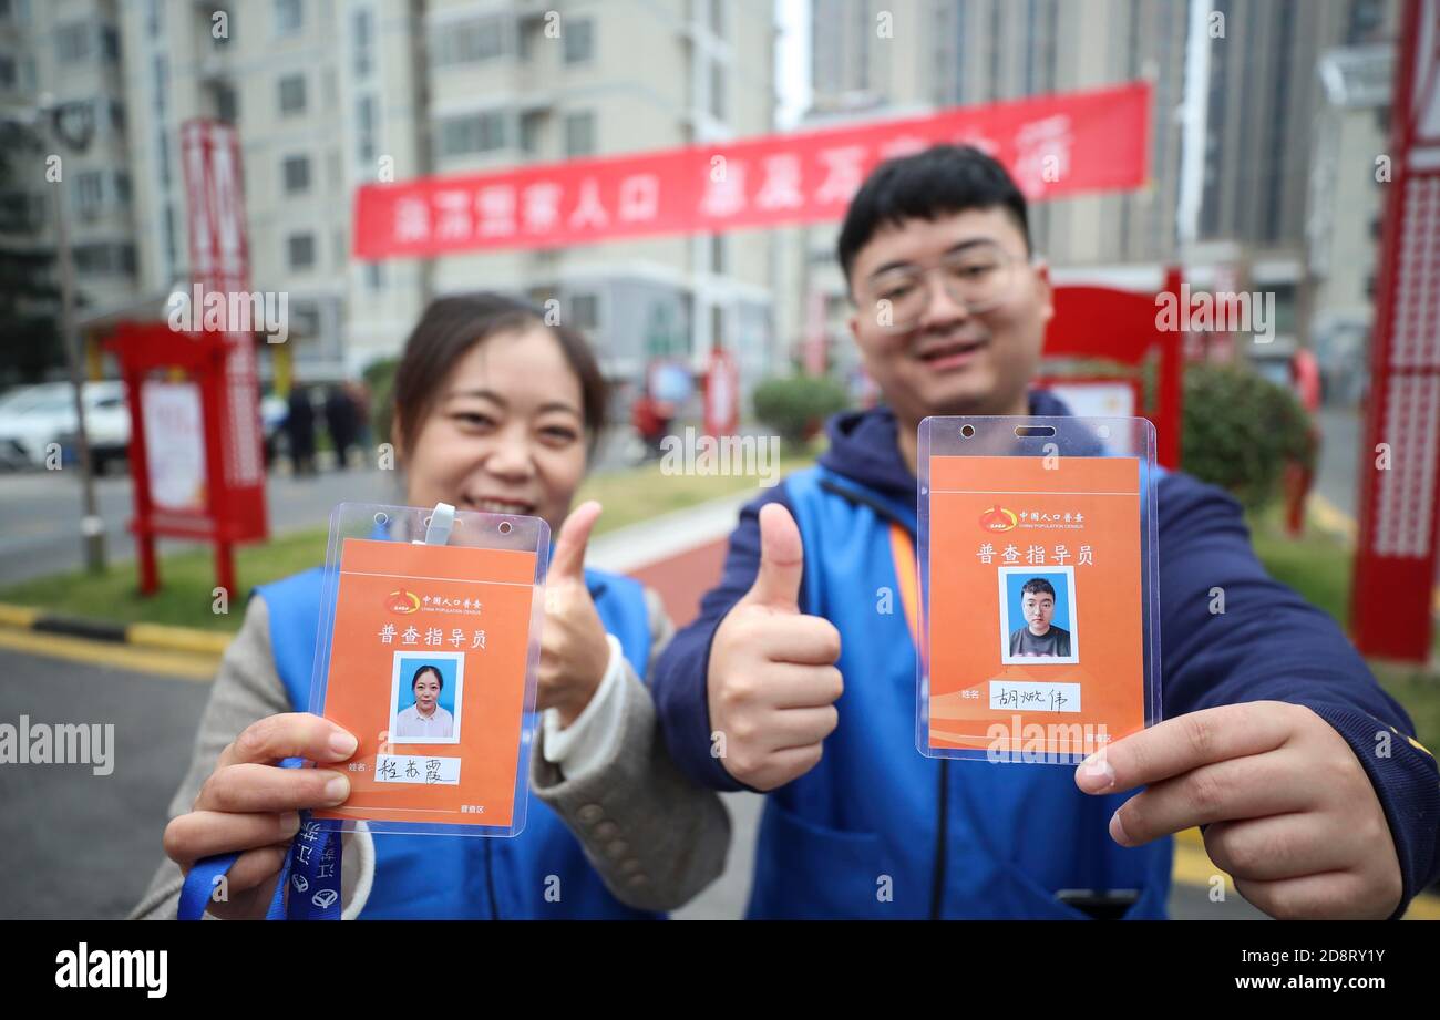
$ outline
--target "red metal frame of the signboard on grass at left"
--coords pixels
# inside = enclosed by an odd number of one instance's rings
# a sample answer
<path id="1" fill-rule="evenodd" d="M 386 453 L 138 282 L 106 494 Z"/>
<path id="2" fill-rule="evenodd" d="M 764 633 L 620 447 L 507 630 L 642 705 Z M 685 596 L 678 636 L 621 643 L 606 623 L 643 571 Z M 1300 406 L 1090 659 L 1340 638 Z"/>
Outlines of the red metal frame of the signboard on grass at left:
<path id="1" fill-rule="evenodd" d="M 156 563 L 156 539 L 200 539 L 215 542 L 216 583 L 226 592 L 235 591 L 235 543 L 264 539 L 266 533 L 265 503 L 253 513 L 253 503 L 236 500 L 233 486 L 225 471 L 223 449 L 226 426 L 226 359 L 229 341 L 219 333 L 176 333 L 167 324 L 124 323 L 105 341 L 115 353 L 125 399 L 130 403 L 130 461 L 135 486 L 135 517 L 130 530 L 140 552 L 140 592 L 150 595 L 160 588 Z M 150 491 L 150 438 L 141 408 L 144 383 L 157 373 L 179 369 L 200 388 L 200 408 L 204 421 L 204 510 L 187 513 L 157 507 Z"/>

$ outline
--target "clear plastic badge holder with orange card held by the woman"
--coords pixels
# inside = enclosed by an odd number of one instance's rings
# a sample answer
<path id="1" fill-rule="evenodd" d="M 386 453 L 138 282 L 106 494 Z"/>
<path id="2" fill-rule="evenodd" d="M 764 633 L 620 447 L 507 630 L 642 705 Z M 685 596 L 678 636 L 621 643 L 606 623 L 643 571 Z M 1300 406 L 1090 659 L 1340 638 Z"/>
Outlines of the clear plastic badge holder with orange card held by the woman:
<path id="1" fill-rule="evenodd" d="M 520 834 L 549 547 L 539 517 L 336 507 L 310 710 L 360 746 L 323 828 Z"/>

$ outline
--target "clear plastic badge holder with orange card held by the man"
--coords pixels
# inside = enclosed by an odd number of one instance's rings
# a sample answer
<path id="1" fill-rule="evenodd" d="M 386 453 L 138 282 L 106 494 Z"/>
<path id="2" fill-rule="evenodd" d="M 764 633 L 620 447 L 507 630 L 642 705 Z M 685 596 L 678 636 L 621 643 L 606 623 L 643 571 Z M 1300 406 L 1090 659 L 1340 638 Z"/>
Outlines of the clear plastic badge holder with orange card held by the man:
<path id="1" fill-rule="evenodd" d="M 926 418 L 917 452 L 920 753 L 1077 764 L 1158 722 L 1151 422 Z"/>

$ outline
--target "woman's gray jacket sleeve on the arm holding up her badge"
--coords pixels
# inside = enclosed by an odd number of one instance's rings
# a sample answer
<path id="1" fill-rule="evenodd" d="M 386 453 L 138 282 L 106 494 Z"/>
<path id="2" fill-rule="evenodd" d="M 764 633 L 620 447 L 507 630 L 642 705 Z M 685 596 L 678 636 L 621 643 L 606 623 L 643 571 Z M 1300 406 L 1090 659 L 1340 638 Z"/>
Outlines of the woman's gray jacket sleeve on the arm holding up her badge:
<path id="1" fill-rule="evenodd" d="M 275 671 L 275 658 L 269 644 L 269 609 L 265 601 L 255 595 L 245 609 L 245 622 L 239 634 L 225 650 L 220 660 L 220 671 L 210 689 L 210 702 L 200 717 L 200 729 L 194 736 L 194 753 L 190 756 L 190 768 L 174 800 L 170 801 L 168 817 L 176 818 L 187 814 L 194 807 L 194 798 L 200 795 L 200 788 L 215 771 L 215 764 L 220 752 L 229 746 L 230 741 L 240 732 L 265 716 L 282 712 L 294 712 L 289 697 L 285 694 L 285 684 L 281 683 L 279 673 Z M 364 841 L 366 846 L 359 846 Z M 361 856 L 369 856 L 369 834 L 354 838 L 346 833 L 341 843 L 341 903 L 350 905 L 356 893 L 356 882 L 367 876 L 367 862 Z M 184 874 L 180 866 L 166 857 L 156 869 L 150 880 L 150 889 L 140 903 L 130 913 L 135 921 L 174 921 L 180 908 L 180 886 Z M 207 913 L 206 919 L 212 919 Z"/>

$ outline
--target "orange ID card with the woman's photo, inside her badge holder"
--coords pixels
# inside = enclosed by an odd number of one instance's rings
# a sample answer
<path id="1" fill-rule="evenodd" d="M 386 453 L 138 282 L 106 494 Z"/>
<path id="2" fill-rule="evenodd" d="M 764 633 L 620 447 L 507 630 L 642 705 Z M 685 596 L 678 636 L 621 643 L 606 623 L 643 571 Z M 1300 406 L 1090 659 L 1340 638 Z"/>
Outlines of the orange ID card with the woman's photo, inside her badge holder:
<path id="1" fill-rule="evenodd" d="M 350 798 L 314 817 L 523 824 L 536 553 L 346 537 L 338 566 L 317 712 L 360 748 Z"/>

